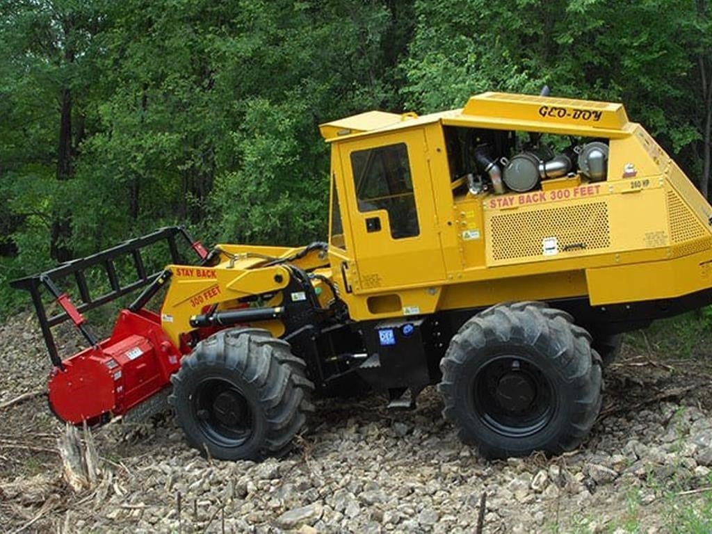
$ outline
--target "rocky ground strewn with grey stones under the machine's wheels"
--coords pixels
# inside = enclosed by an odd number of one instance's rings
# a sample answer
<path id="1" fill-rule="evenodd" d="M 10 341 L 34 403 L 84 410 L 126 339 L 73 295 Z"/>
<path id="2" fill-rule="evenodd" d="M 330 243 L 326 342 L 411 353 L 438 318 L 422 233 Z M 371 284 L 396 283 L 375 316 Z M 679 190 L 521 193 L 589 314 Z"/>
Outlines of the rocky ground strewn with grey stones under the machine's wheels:
<path id="1" fill-rule="evenodd" d="M 41 392 L 33 320 L 0 326 L 0 343 L 0 406 Z M 471 533 L 484 498 L 486 533 L 710 532 L 712 357 L 696 345 L 679 355 L 653 334 L 629 337 L 592 436 L 552 459 L 484 461 L 426 391 L 413 412 L 377 397 L 318 402 L 296 451 L 262 464 L 202 459 L 169 414 L 111 424 L 93 434 L 98 480 L 75 493 L 63 426 L 30 395 L 0 408 L 0 530 Z"/>

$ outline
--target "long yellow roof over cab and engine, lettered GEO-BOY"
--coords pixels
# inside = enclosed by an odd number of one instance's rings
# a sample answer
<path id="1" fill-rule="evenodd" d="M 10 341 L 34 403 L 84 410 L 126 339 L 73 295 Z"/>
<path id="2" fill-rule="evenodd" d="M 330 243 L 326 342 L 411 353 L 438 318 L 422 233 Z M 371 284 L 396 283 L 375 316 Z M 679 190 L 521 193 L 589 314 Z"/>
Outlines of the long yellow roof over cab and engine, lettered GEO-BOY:
<path id="1" fill-rule="evenodd" d="M 441 122 L 494 130 L 550 132 L 587 137 L 626 137 L 634 130 L 622 104 L 513 93 L 482 93 L 464 108 L 418 116 L 370 111 L 320 125 L 322 137 L 335 142 Z"/>

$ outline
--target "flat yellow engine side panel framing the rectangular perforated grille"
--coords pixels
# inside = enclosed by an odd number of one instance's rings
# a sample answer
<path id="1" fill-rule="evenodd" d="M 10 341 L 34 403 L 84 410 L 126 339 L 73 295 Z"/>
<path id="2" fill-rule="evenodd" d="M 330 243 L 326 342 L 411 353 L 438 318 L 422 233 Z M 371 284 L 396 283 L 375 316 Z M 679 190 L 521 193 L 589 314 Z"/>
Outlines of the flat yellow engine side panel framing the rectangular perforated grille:
<path id="1" fill-rule="evenodd" d="M 604 182 L 483 200 L 488 266 L 669 245 L 664 190 L 610 194 Z"/>

